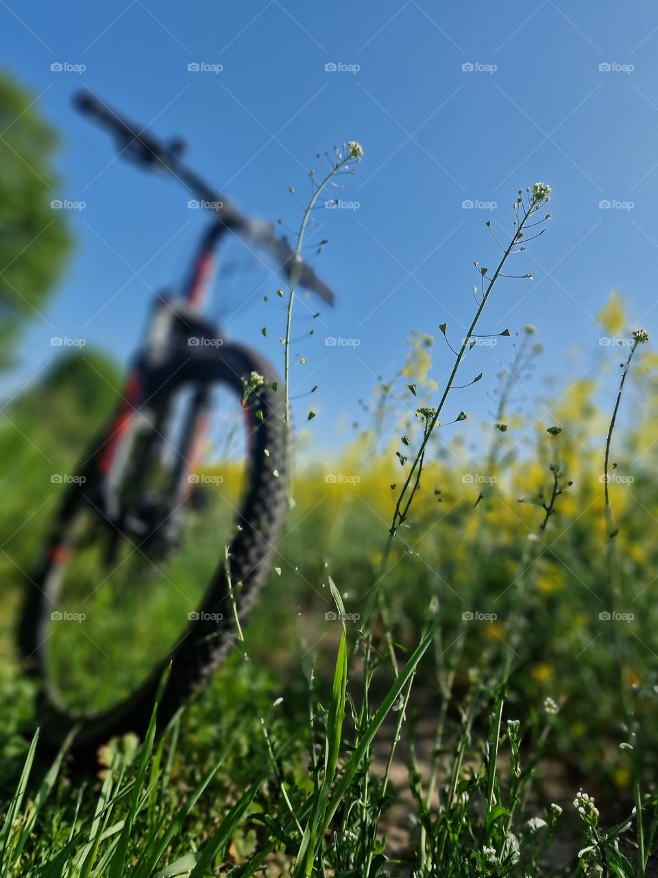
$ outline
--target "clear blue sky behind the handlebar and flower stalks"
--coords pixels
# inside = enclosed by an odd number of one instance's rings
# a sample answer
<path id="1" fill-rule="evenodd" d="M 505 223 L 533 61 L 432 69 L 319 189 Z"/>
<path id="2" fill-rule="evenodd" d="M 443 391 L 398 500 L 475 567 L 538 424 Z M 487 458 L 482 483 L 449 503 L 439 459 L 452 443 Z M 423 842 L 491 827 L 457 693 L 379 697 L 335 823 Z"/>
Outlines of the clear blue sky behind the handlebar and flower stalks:
<path id="1" fill-rule="evenodd" d="M 190 162 L 219 188 L 292 227 L 300 212 L 288 187 L 307 191 L 316 153 L 342 140 L 363 145 L 344 196 L 358 210 L 317 215 L 318 238 L 330 243 L 315 265 L 337 306 L 323 309 L 312 340 L 296 345 L 308 363 L 296 368 L 293 392 L 319 385 L 312 426 L 320 448 L 345 438 L 361 417 L 357 399 L 369 398 L 375 375 L 394 371 L 411 330 L 436 335 L 447 320 L 459 337 L 473 313 L 471 260 L 496 258 L 484 222 L 504 234 L 517 189 L 535 180 L 553 187 L 554 219 L 527 258 L 515 257 L 535 280 L 501 284 L 482 331 L 533 323 L 547 347 L 542 369 L 564 378 L 601 356 L 594 315 L 612 288 L 626 292 L 640 325 L 658 332 L 654 4 L 8 0 L 0 32 L 5 67 L 61 129 L 57 196 L 87 205 L 73 217 L 78 248 L 46 312 L 50 325 L 34 321 L 13 386 L 53 355 L 52 335 L 83 336 L 125 359 L 146 318 L 147 284 L 161 289 L 181 277 L 202 227 L 175 184 L 113 161 L 109 137 L 71 109 L 83 85 L 129 118 L 152 122 L 155 133 L 183 134 Z M 86 70 L 53 72 L 54 62 Z M 223 70 L 190 73 L 190 62 Z M 359 69 L 327 72 L 329 62 Z M 495 70 L 462 69 L 469 63 Z M 464 209 L 466 199 L 498 206 Z M 604 199 L 633 207 L 601 209 Z M 276 281 L 262 290 L 268 304 L 261 293 L 240 307 L 268 272 L 238 248 L 226 259 L 247 266 L 226 281 L 229 333 L 278 363 Z M 296 335 L 309 327 L 301 319 Z M 326 335 L 361 343 L 327 348 Z M 449 352 L 437 353 L 440 381 Z M 475 356 L 471 368 L 483 369 L 483 382 L 454 399 L 454 414 L 463 407 L 484 416 L 496 361 L 507 359 L 502 345 Z M 297 422 L 307 408 L 300 400 Z"/>

